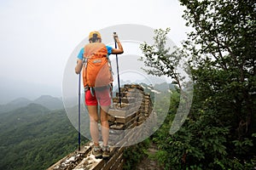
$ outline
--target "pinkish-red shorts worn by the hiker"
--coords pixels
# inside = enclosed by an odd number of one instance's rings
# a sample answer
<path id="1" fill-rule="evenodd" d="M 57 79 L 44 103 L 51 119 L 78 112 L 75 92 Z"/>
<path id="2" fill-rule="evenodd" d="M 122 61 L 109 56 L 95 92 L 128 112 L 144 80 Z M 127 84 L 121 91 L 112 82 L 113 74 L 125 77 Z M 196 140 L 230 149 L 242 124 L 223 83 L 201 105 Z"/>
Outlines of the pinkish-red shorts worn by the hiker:
<path id="1" fill-rule="evenodd" d="M 85 105 L 111 105 L 111 91 L 110 88 L 87 90 L 85 92 Z"/>

